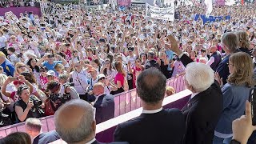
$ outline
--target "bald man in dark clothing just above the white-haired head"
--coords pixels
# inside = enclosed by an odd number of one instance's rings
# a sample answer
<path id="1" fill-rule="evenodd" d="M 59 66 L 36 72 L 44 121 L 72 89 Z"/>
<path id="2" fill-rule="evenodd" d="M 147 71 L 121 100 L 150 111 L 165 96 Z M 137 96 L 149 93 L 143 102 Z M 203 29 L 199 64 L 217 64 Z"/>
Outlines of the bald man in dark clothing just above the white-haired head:
<path id="1" fill-rule="evenodd" d="M 210 46 L 211 56 L 206 65 L 210 66 L 214 71 L 216 71 L 218 64 L 222 61 L 222 55 L 217 50 L 217 46 Z"/>

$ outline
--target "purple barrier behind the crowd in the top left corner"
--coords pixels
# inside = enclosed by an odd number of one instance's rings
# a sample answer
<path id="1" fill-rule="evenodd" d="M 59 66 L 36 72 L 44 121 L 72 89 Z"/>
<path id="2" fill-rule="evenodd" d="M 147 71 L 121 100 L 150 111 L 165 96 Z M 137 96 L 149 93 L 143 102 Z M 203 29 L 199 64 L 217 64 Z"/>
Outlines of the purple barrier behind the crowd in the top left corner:
<path id="1" fill-rule="evenodd" d="M 6 7 L 0 8 L 0 16 L 4 16 L 6 12 L 12 11 L 17 18 L 20 18 L 19 14 L 24 14 L 25 12 L 32 12 L 33 14 L 37 14 L 39 17 L 42 16 L 40 7 L 30 6 L 30 7 Z"/>

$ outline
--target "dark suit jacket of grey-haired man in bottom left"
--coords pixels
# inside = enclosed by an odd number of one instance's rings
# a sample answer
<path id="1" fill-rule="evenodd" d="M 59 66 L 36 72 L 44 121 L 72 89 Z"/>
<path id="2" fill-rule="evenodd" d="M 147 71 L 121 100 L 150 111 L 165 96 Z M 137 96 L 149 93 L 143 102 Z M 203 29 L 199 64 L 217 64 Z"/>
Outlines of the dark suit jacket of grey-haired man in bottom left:
<path id="1" fill-rule="evenodd" d="M 53 130 L 48 133 L 39 134 L 36 138 L 34 138 L 33 144 L 47 144 L 50 142 L 54 142 L 59 138 L 60 136 L 58 135 L 58 133 Z"/>

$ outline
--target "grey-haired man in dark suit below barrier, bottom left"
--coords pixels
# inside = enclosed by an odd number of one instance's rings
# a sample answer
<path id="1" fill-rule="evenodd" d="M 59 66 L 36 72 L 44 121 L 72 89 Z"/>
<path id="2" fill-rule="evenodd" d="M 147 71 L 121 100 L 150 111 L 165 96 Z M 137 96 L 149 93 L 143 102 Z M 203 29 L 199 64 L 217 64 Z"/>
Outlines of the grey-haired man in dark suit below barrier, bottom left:
<path id="1" fill-rule="evenodd" d="M 42 123 L 38 118 L 27 118 L 25 129 L 26 133 L 30 134 L 31 138 L 34 138 L 33 144 L 47 144 L 58 140 L 60 137 L 58 133 L 50 131 L 48 133 L 42 133 Z"/>

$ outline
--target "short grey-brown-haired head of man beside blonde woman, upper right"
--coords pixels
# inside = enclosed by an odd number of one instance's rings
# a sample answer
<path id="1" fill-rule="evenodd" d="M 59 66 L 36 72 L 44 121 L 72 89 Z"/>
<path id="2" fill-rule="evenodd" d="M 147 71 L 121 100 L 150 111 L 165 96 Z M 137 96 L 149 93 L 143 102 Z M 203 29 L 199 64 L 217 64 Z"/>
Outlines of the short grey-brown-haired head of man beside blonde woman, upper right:
<path id="1" fill-rule="evenodd" d="M 222 35 L 222 43 L 230 50 L 230 53 L 234 53 L 238 49 L 238 37 L 234 33 L 224 33 Z"/>

